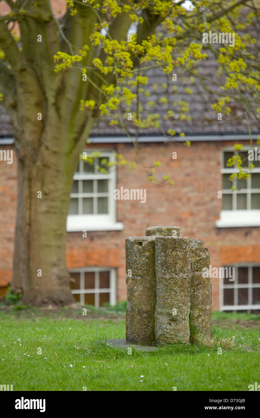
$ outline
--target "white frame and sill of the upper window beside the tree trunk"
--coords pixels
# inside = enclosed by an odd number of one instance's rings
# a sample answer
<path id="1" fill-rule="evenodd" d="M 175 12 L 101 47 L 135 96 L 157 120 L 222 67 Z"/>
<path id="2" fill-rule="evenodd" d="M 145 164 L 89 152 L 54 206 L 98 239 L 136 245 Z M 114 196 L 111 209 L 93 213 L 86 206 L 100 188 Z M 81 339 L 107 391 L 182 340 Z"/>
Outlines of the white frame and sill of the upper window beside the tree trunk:
<path id="1" fill-rule="evenodd" d="M 91 150 L 86 149 L 87 154 L 90 155 L 93 152 L 99 152 L 101 158 L 109 158 L 109 161 L 115 162 L 116 157 L 114 151 L 110 150 Z M 101 180 L 108 179 L 108 214 L 68 214 L 67 216 L 67 232 L 79 232 L 79 231 L 114 231 L 124 229 L 122 222 L 116 222 L 116 201 L 114 199 L 114 189 L 116 189 L 116 166 L 112 166 L 109 169 L 109 174 L 104 173 L 78 173 L 76 172 L 73 176 L 74 180 Z M 94 191 L 95 193 L 95 191 Z M 93 193 L 92 193 L 93 195 Z M 85 197 L 83 193 L 71 193 L 73 197 Z M 96 191 L 96 196 L 101 196 Z"/>

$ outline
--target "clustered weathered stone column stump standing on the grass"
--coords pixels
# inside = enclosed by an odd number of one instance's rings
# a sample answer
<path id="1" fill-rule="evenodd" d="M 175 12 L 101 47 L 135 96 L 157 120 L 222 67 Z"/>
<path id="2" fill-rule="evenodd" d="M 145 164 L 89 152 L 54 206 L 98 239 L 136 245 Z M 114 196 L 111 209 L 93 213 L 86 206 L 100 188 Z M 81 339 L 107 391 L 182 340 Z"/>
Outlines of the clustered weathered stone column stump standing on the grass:
<path id="1" fill-rule="evenodd" d="M 126 238 L 126 343 L 188 343 L 190 324 L 211 336 L 210 255 L 202 240 L 179 227 L 149 227 Z"/>

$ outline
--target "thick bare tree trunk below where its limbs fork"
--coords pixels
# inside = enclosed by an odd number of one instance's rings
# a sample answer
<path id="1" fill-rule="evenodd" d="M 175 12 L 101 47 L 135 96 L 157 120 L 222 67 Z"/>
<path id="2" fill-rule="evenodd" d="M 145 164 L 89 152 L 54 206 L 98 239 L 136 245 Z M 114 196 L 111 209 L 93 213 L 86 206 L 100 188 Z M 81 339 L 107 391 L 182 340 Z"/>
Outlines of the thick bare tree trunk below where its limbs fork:
<path id="1" fill-rule="evenodd" d="M 46 133 L 36 161 L 18 150 L 18 206 L 12 289 L 23 303 L 73 302 L 66 269 L 66 218 L 79 150 L 60 130 Z M 84 141 L 83 141 L 84 142 Z M 65 145 L 64 145 L 65 144 Z M 83 146 L 83 144 L 82 144 Z M 35 160 L 35 153 L 34 160 Z"/>

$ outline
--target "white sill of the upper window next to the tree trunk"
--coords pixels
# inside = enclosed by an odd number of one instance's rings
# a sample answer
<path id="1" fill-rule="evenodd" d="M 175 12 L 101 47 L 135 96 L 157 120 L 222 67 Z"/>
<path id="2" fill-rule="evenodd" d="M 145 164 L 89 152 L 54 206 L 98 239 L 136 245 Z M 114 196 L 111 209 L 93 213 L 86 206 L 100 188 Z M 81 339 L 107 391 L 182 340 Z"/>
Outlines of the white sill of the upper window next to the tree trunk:
<path id="1" fill-rule="evenodd" d="M 89 215 L 67 216 L 67 232 L 121 231 L 122 229 L 124 229 L 122 222 L 112 222 L 106 215 L 94 217 Z"/>

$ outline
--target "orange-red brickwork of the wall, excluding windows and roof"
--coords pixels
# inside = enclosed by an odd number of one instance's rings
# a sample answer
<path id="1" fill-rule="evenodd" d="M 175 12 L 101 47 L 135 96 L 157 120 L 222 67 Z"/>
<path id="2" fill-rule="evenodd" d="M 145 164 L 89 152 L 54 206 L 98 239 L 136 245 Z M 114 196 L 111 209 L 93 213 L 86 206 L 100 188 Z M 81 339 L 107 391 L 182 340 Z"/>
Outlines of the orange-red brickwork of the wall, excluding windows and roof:
<path id="1" fill-rule="evenodd" d="M 227 263 L 260 263 L 260 227 L 216 228 L 222 189 L 220 151 L 234 141 L 196 142 L 190 148 L 183 144 L 141 143 L 140 152 L 146 166 L 161 161 L 158 176 L 169 175 L 174 186 L 147 182 L 141 164 L 137 170 L 118 168 L 117 188 L 146 189 L 146 203 L 117 201 L 117 222 L 124 223 L 122 231 L 70 232 L 67 237 L 68 269 L 80 267 L 117 268 L 117 298 L 126 299 L 124 241 L 129 236 L 142 236 L 149 226 L 177 225 L 182 236 L 204 240 L 210 251 L 210 263 L 220 267 Z M 247 142 L 244 141 L 246 144 Z M 88 147 L 86 147 L 88 148 Z M 93 145 L 91 145 L 93 148 Z M 131 144 L 96 145 L 99 149 L 114 149 L 127 160 L 135 161 Z M 4 149 L 4 146 L 1 147 Z M 10 149 L 10 146 L 6 147 Z M 172 152 L 177 152 L 177 160 Z M 15 155 L 14 155 L 15 157 Z M 13 236 L 16 210 L 16 161 L 0 162 L 0 286 L 11 279 Z M 212 309 L 219 309 L 219 279 L 212 279 Z"/>

